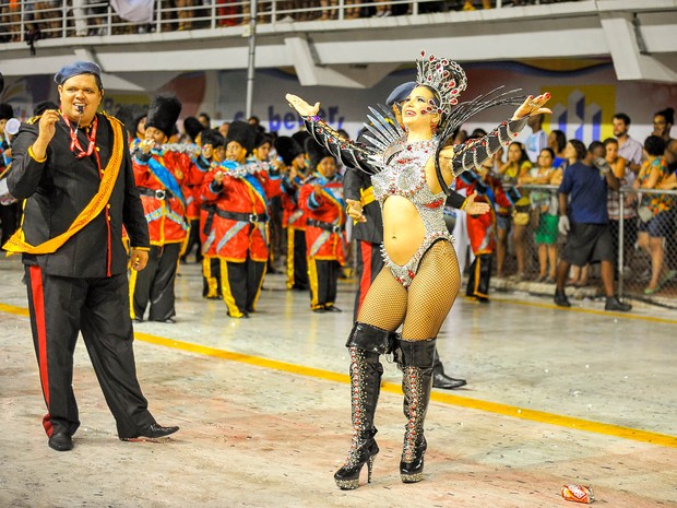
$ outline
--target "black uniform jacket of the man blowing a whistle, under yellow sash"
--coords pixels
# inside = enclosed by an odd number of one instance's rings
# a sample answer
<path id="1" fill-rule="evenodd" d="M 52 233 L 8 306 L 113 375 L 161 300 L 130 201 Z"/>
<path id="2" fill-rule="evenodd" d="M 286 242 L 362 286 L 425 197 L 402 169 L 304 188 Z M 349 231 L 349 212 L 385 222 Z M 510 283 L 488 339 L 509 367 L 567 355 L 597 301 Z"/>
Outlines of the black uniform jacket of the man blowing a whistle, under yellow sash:
<path id="1" fill-rule="evenodd" d="M 97 115 L 96 150 L 100 167 L 108 164 L 112 150 L 111 121 Z M 39 245 L 66 232 L 98 192 L 100 177 L 94 154 L 76 158 L 71 152 L 70 129 L 59 119 L 56 134 L 47 150 L 47 160 L 36 162 L 28 147 L 38 135 L 39 119 L 23 125 L 12 143 L 13 169 L 8 187 L 16 199 L 25 199 L 23 232 L 25 240 Z M 83 129 L 78 133 L 83 149 L 88 140 Z M 149 228 L 129 155 L 127 137 L 122 139 L 122 167 L 108 204 L 80 232 L 54 253 L 23 255 L 24 264 L 38 264 L 45 273 L 69 277 L 104 277 L 127 270 L 127 251 L 122 243 L 124 225 L 132 247 L 149 247 Z M 106 223 L 110 224 L 110 227 Z"/>

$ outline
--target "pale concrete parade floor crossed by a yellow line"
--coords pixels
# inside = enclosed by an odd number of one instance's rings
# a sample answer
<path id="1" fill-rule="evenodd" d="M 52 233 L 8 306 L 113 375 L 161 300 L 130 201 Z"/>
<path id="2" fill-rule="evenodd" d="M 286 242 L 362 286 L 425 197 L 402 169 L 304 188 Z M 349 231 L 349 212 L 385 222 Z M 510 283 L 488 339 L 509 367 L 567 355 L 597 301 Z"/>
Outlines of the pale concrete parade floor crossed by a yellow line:
<path id="1" fill-rule="evenodd" d="M 82 343 L 75 448 L 47 447 L 44 403 L 19 259 L 0 260 L 0 507 L 571 506 L 563 484 L 591 485 L 602 506 L 677 506 L 677 316 L 638 308 L 572 310 L 496 293 L 459 298 L 439 350 L 468 379 L 436 390 L 426 422 L 426 479 L 397 474 L 404 418 L 399 371 L 385 365 L 373 482 L 336 488 L 349 444 L 347 355 L 354 285 L 343 314 L 269 275 L 250 319 L 199 297 L 182 264 L 177 323 L 141 323 L 138 371 L 151 410 L 180 433 L 121 442 Z M 575 505 L 573 505 L 575 506 Z"/>

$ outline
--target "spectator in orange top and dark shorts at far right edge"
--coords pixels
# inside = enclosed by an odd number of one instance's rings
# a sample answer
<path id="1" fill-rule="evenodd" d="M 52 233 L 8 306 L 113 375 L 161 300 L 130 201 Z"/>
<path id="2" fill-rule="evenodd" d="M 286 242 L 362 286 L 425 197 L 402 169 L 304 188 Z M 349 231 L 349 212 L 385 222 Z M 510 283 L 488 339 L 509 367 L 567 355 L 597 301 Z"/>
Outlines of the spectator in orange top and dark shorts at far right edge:
<path id="1" fill-rule="evenodd" d="M 663 153 L 665 141 L 650 135 L 644 141 L 644 155 L 640 174 L 634 181 L 636 189 L 655 189 L 668 178 L 669 170 Z M 675 234 L 675 198 L 672 196 L 643 194 L 638 213 L 640 226 L 638 244 L 651 256 L 651 281 L 644 294 L 653 295 L 677 275 L 677 270 L 665 271 L 665 238 Z"/>

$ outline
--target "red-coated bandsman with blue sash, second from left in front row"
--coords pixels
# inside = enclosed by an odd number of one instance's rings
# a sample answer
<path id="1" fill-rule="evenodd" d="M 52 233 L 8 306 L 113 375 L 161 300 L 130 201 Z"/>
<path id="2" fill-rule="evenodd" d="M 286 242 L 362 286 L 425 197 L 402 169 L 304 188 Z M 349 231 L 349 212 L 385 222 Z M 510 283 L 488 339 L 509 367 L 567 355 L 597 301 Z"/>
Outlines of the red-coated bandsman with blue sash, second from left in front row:
<path id="1" fill-rule="evenodd" d="M 250 157 L 256 135 L 249 123 L 230 123 L 226 161 L 202 184 L 203 253 L 219 260 L 221 292 L 233 318 L 256 311 L 269 257 L 268 200 L 280 194 L 270 165 Z"/>

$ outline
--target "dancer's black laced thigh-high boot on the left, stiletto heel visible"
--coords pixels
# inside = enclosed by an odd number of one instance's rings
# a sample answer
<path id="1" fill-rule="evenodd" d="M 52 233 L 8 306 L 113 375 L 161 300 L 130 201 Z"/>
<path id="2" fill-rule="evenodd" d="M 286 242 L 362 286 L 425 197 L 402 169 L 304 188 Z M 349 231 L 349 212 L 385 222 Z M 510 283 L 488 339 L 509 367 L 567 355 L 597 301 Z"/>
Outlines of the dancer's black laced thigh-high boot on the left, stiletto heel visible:
<path id="1" fill-rule="evenodd" d="M 381 390 L 383 366 L 379 356 L 389 352 L 394 333 L 356 322 L 346 343 L 351 353 L 351 406 L 353 441 L 343 466 L 334 474 L 336 485 L 344 491 L 359 486 L 359 473 L 367 464 L 367 483 L 371 482 L 371 468 L 379 452 L 373 415 Z"/>

